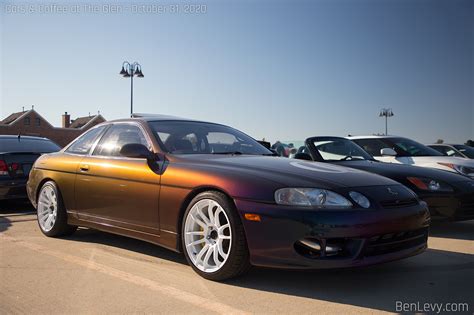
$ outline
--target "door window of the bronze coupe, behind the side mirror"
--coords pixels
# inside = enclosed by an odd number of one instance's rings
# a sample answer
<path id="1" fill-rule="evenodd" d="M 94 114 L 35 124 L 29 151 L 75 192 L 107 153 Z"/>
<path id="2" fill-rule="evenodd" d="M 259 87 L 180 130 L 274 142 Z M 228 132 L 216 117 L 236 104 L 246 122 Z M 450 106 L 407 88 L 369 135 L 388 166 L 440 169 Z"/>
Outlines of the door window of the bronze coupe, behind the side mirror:
<path id="1" fill-rule="evenodd" d="M 143 132 L 135 125 L 116 124 L 110 127 L 100 139 L 92 155 L 120 156 L 120 150 L 126 144 L 139 143 L 149 148 Z"/>

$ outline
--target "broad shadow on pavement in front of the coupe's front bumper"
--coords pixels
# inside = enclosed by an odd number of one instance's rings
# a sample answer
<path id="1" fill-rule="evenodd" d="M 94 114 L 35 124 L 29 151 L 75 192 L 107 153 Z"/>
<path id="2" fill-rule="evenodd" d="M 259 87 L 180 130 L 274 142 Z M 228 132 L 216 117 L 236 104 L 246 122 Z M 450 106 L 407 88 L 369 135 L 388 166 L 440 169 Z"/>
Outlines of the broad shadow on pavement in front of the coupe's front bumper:
<path id="1" fill-rule="evenodd" d="M 382 265 L 292 271 L 253 268 L 228 285 L 397 312 L 396 303 L 469 304 L 472 313 L 474 255 L 429 249 Z"/>

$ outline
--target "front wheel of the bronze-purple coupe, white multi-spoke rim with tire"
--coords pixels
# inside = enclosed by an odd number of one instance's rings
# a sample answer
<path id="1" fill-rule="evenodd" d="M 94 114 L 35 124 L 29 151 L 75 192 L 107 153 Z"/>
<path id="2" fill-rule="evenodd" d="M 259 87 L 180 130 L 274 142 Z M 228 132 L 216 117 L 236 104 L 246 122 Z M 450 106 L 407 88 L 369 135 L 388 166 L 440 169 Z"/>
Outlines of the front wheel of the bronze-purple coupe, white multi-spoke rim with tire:
<path id="1" fill-rule="evenodd" d="M 204 278 L 225 280 L 250 266 L 242 223 L 233 203 L 222 193 L 204 192 L 191 201 L 182 240 L 186 259 Z"/>

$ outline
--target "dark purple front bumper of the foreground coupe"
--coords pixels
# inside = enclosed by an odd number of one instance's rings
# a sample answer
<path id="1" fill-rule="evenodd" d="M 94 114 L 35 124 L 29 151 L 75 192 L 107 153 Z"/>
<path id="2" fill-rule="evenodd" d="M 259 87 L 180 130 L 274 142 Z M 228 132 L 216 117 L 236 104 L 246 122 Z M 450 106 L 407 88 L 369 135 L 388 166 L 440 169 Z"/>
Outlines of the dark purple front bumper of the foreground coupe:
<path id="1" fill-rule="evenodd" d="M 379 210 L 314 210 L 235 200 L 253 265 L 295 269 L 343 268 L 413 256 L 427 248 L 430 215 L 424 202 Z M 247 221 L 258 214 L 260 222 Z M 301 240 L 321 244 L 315 253 Z M 337 254 L 325 253 L 337 246 Z M 326 247 L 328 248 L 328 247 Z"/>

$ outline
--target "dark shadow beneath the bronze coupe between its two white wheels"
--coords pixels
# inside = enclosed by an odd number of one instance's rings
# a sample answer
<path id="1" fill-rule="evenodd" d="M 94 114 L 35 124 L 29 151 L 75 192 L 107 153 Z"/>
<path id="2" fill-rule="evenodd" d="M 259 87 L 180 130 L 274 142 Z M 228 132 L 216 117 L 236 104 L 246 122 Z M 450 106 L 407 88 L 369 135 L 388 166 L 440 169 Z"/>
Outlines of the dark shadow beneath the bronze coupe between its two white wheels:
<path id="1" fill-rule="evenodd" d="M 73 235 L 63 237 L 63 239 L 117 247 L 147 256 L 187 265 L 186 259 L 183 255 L 173 252 L 169 249 L 145 241 L 102 232 L 99 230 L 79 228 Z"/>

